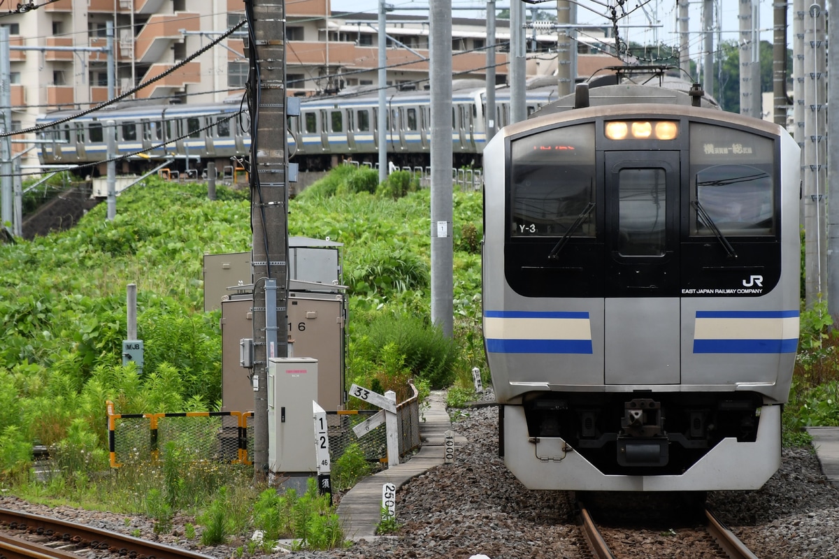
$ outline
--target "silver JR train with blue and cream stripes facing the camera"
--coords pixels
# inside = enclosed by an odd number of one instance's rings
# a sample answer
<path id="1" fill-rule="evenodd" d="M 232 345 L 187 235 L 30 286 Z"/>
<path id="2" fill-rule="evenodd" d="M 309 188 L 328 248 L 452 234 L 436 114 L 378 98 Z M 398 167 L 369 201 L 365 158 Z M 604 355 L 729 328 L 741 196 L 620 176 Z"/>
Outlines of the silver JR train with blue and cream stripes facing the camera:
<path id="1" fill-rule="evenodd" d="M 529 489 L 701 494 L 779 468 L 800 150 L 697 90 L 578 86 L 487 144 L 483 330 Z"/>

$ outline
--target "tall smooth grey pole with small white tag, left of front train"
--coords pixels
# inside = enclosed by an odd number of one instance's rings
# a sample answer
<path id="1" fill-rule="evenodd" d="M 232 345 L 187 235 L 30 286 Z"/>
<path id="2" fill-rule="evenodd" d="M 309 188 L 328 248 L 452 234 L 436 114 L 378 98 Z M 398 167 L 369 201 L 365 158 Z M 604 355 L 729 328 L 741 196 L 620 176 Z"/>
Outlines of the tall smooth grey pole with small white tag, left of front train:
<path id="1" fill-rule="evenodd" d="M 430 3 L 431 323 L 454 329 L 454 246 L 451 194 L 451 0 Z"/>

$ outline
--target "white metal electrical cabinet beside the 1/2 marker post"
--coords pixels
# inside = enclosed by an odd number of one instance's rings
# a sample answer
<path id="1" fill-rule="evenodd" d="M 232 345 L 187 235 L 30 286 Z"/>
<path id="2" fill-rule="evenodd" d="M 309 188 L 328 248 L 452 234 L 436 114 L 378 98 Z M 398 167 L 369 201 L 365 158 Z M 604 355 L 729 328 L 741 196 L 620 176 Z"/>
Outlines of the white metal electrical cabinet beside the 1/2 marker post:
<path id="1" fill-rule="evenodd" d="M 268 360 L 268 469 L 274 474 L 317 471 L 312 401 L 317 401 L 316 359 Z"/>

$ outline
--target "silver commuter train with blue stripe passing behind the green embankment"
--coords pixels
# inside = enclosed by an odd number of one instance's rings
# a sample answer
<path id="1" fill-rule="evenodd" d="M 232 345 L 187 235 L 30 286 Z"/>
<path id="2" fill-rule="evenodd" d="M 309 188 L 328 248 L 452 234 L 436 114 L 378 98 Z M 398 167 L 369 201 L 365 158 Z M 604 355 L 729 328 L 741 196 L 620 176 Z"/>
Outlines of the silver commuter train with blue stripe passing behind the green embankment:
<path id="1" fill-rule="evenodd" d="M 534 85 L 528 91 L 528 111 L 555 100 L 555 86 Z M 451 137 L 455 167 L 481 166 L 487 142 L 485 88 L 477 80 L 456 80 L 453 85 Z M 496 93 L 498 127 L 509 122 L 509 89 Z M 426 166 L 430 160 L 430 93 L 388 90 L 388 160 L 399 167 Z M 103 126 L 114 121 L 116 153 L 143 150 L 143 156 L 122 161 L 121 173 L 140 172 L 166 154 L 175 155 L 180 168 L 231 165 L 230 158 L 248 155 L 250 132 L 241 99 L 209 105 L 143 105 L 96 111 L 40 132 L 47 142 L 39 148 L 44 164 L 99 163 L 106 159 Z M 49 124 L 76 111 L 55 111 L 39 118 Z M 378 162 L 378 92 L 324 98 L 303 98 L 300 116 L 289 119 L 289 153 L 301 171 L 326 170 L 342 158 Z M 51 140 L 51 142 L 50 142 Z M 159 145 L 167 142 L 165 146 Z M 155 148 L 155 146 L 157 146 Z M 149 159 L 151 158 L 151 159 Z M 98 172 L 104 173 L 103 165 Z M 175 167 L 175 165 L 171 165 Z"/>

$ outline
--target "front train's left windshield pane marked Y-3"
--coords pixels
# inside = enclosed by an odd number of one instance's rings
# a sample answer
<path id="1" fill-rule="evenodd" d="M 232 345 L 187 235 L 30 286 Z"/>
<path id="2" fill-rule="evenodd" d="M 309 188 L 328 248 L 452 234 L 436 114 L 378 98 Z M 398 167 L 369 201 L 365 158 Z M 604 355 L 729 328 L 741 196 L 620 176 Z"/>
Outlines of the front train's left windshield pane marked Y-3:
<path id="1" fill-rule="evenodd" d="M 594 125 L 539 132 L 511 142 L 510 234 L 564 236 L 595 201 Z M 594 213 L 571 231 L 596 234 Z"/>

